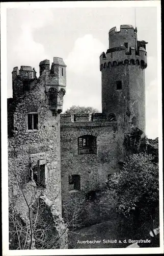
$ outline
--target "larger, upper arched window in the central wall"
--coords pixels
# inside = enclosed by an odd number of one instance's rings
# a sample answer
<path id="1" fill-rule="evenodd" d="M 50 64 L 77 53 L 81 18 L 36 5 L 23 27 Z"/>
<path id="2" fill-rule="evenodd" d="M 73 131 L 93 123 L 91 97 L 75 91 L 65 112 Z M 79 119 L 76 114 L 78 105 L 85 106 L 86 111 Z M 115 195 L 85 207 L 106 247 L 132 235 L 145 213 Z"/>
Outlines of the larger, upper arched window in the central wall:
<path id="1" fill-rule="evenodd" d="M 92 135 L 78 137 L 78 154 L 97 154 L 96 137 Z"/>

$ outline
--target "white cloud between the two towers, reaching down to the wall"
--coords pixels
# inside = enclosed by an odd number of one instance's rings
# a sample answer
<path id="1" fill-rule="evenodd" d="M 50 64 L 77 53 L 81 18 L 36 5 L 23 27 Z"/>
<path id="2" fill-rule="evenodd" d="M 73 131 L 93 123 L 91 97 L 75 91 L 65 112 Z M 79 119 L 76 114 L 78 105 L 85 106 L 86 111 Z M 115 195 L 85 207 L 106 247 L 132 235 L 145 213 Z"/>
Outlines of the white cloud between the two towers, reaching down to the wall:
<path id="1" fill-rule="evenodd" d="M 64 110 L 71 105 L 93 106 L 101 111 L 101 73 L 99 56 L 106 48 L 91 34 L 76 39 L 65 59 L 67 89 Z"/>

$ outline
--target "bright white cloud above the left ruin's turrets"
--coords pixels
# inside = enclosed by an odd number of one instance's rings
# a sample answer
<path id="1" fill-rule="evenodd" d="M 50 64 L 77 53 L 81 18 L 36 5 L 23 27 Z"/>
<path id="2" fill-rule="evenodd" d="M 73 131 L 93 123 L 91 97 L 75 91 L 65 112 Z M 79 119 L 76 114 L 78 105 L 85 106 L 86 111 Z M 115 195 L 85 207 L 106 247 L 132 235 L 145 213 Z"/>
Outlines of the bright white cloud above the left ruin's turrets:
<path id="1" fill-rule="evenodd" d="M 14 12 L 16 16 L 16 11 Z M 15 24 L 12 25 L 12 15 L 9 15 L 8 23 L 8 97 L 12 97 L 12 75 L 14 67 L 32 66 L 35 67 L 39 76 L 39 63 L 43 59 L 51 59 L 46 53 L 45 48 L 34 40 L 36 29 L 40 29 L 53 22 L 52 12 L 48 9 L 42 10 L 22 10 L 18 17 L 14 18 Z M 16 27 L 16 29 L 15 29 Z M 15 31 L 13 40 L 10 39 L 12 29 Z"/>

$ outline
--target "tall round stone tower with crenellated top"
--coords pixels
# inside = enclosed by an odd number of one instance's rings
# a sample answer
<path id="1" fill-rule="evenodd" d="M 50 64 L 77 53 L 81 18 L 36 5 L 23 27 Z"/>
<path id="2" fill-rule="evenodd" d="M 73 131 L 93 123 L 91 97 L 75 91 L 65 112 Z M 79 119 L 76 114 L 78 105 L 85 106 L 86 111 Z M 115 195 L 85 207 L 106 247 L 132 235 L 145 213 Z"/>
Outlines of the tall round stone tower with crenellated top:
<path id="1" fill-rule="evenodd" d="M 145 41 L 138 41 L 137 30 L 121 25 L 109 32 L 109 48 L 100 55 L 102 113 L 126 129 L 145 132 Z"/>

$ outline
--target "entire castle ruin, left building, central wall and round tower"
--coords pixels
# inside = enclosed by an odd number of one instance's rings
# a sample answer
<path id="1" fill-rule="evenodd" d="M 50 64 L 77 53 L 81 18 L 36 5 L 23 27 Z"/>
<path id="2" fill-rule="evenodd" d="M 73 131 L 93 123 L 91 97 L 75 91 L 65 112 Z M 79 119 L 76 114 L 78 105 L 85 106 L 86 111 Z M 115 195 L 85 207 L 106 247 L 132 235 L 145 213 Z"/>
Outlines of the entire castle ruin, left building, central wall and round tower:
<path id="1" fill-rule="evenodd" d="M 8 99 L 9 193 L 19 181 L 34 180 L 58 205 L 70 204 L 101 189 L 119 171 L 124 138 L 138 127 L 145 132 L 145 41 L 122 25 L 109 32 L 109 48 L 100 55 L 102 113 L 60 114 L 66 65 L 54 57 L 40 62 L 40 76 L 30 66 L 13 69 L 13 98 Z M 25 183 L 24 183 L 25 184 Z M 63 216 L 64 216 L 63 209 Z"/>

